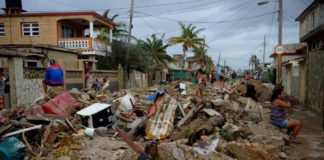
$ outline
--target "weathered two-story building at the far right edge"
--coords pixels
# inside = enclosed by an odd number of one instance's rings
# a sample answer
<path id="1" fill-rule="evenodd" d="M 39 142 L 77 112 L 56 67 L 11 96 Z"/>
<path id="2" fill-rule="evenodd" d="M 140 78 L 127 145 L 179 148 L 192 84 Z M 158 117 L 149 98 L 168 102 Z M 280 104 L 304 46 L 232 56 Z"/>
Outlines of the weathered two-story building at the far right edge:
<path id="1" fill-rule="evenodd" d="M 308 44 L 306 57 L 306 105 L 322 112 L 324 106 L 324 0 L 315 0 L 296 19 L 299 37 Z"/>

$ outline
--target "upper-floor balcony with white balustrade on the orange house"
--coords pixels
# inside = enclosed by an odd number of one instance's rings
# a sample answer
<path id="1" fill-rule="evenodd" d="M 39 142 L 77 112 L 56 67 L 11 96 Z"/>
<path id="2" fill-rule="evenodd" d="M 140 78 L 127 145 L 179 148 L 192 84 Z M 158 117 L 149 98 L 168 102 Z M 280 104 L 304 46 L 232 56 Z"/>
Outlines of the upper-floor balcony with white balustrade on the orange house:
<path id="1" fill-rule="evenodd" d="M 106 21 L 96 17 L 60 19 L 57 21 L 57 45 L 74 49 L 81 55 L 107 56 L 111 52 L 112 27 Z M 96 39 L 97 29 L 108 28 L 107 42 Z"/>

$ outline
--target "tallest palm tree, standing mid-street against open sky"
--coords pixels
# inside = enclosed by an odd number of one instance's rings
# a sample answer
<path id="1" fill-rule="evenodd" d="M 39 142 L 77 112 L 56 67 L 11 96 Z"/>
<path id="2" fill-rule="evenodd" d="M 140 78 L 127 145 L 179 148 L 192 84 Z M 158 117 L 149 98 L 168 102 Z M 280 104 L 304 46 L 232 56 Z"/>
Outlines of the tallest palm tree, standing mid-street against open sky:
<path id="1" fill-rule="evenodd" d="M 198 38 L 199 32 L 201 32 L 203 29 L 196 29 L 196 26 L 193 26 L 192 24 L 189 24 L 186 26 L 182 22 L 179 22 L 180 27 L 182 29 L 182 33 L 180 36 L 172 37 L 170 39 L 171 44 L 182 44 L 183 48 L 183 62 L 181 67 L 181 75 L 184 69 L 185 65 L 185 58 L 186 58 L 186 52 L 189 48 L 199 48 L 200 46 L 206 46 L 205 41 L 203 38 Z"/>

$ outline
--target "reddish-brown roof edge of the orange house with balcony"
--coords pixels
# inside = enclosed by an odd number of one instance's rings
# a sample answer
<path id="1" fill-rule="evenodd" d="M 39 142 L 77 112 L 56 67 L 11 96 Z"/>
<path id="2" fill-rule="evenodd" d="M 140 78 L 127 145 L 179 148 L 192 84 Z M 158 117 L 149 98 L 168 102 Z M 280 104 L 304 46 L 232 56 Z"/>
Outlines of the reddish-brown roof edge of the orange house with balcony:
<path id="1" fill-rule="evenodd" d="M 78 11 L 78 12 L 22 12 L 19 14 L 0 14 L 2 17 L 38 17 L 38 16 L 71 16 L 71 15 L 92 15 L 111 26 L 114 26 L 115 23 L 110 19 L 98 14 L 94 11 Z"/>

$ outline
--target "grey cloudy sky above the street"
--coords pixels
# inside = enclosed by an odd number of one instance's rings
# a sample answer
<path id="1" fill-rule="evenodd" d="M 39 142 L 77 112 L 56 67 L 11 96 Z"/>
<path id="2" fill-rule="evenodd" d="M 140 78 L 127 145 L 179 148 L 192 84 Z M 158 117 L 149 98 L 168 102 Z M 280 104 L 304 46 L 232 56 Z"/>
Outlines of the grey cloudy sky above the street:
<path id="1" fill-rule="evenodd" d="M 131 0 L 22 0 L 27 11 L 80 11 L 102 13 L 111 9 L 119 14 L 116 21 L 128 23 Z M 200 33 L 209 46 L 208 55 L 217 63 L 226 61 L 230 67 L 246 68 L 248 59 L 256 54 L 262 59 L 263 37 L 266 35 L 266 62 L 278 39 L 276 0 L 258 6 L 258 0 L 134 0 L 132 34 L 147 38 L 165 34 L 167 40 L 181 34 L 178 22 L 192 23 L 205 30 Z M 283 0 L 283 43 L 299 42 L 296 17 L 313 0 Z M 4 0 L 0 0 L 0 8 Z M 182 53 L 181 45 L 168 49 L 170 55 Z M 192 55 L 192 53 L 189 53 Z"/>

